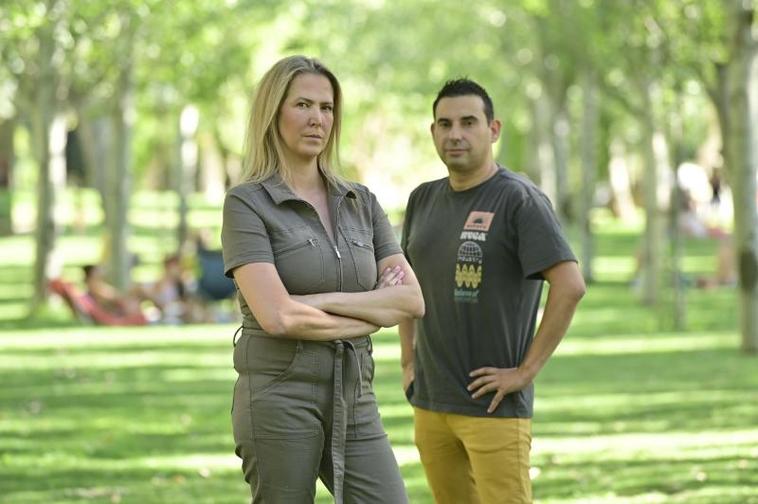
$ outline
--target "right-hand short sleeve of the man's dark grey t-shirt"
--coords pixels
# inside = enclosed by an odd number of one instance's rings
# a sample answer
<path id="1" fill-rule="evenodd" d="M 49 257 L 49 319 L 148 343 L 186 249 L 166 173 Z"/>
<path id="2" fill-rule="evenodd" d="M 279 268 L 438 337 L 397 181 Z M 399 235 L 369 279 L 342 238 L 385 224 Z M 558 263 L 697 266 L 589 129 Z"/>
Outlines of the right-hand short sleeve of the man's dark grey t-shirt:
<path id="1" fill-rule="evenodd" d="M 542 271 L 576 261 L 547 196 L 527 193 L 515 218 L 517 253 L 526 278 L 541 279 Z"/>

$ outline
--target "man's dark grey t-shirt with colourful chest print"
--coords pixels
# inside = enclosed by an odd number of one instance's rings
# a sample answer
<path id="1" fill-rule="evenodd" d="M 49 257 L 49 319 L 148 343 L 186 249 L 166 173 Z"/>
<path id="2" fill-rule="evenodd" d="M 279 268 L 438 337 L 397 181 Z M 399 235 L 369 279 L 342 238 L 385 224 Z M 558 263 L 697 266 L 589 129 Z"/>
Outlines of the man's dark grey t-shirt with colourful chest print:
<path id="1" fill-rule="evenodd" d="M 492 393 L 471 399 L 469 373 L 517 367 L 534 337 L 541 272 L 576 261 L 547 197 L 504 168 L 456 192 L 448 178 L 417 187 L 403 250 L 426 301 L 417 321 L 411 403 L 469 416 L 531 418 L 534 388 L 507 395 L 491 415 Z"/>

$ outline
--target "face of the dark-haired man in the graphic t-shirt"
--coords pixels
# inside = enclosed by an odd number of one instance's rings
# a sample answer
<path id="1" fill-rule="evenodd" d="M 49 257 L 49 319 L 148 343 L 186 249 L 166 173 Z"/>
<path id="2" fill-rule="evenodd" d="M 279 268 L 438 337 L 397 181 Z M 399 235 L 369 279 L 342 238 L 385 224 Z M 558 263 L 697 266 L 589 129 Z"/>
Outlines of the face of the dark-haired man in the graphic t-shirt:
<path id="1" fill-rule="evenodd" d="M 499 134 L 500 122 L 487 121 L 479 96 L 445 97 L 437 103 L 432 138 L 449 170 L 464 173 L 488 166 Z"/>

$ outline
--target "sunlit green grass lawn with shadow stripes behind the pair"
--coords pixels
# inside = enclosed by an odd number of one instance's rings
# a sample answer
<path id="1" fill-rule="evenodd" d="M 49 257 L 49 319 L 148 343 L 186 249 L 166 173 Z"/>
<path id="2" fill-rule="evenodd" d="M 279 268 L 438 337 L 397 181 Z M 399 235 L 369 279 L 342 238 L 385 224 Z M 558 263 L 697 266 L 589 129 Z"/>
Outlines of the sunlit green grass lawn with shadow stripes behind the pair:
<path id="1" fill-rule="evenodd" d="M 536 501 L 758 503 L 758 360 L 738 351 L 734 289 L 690 289 L 674 332 L 671 296 L 644 308 L 628 286 L 634 230 L 602 231 L 599 281 L 537 383 Z M 62 248 L 84 262 L 88 240 Z M 234 326 L 82 327 L 60 306 L 25 321 L 31 238 L 0 249 L 0 502 L 248 502 L 230 432 Z M 687 274 L 712 270 L 712 252 L 688 242 Z M 375 338 L 375 389 L 411 502 L 431 503 L 397 342 Z"/>

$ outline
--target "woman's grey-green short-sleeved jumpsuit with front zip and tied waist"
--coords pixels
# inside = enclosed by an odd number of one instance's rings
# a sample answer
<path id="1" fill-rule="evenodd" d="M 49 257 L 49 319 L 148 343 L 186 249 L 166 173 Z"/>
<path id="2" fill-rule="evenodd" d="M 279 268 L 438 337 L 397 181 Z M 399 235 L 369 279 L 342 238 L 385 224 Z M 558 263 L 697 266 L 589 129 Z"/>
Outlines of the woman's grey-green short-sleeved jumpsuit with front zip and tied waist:
<path id="1" fill-rule="evenodd" d="M 269 262 L 293 295 L 374 288 L 376 263 L 401 249 L 365 187 L 329 185 L 334 237 L 278 176 L 229 191 L 222 243 L 228 276 Z M 337 503 L 407 502 L 372 388 L 371 339 L 271 337 L 241 293 L 232 424 L 253 503 L 308 503 L 321 478 Z"/>

